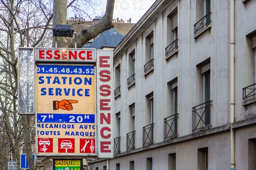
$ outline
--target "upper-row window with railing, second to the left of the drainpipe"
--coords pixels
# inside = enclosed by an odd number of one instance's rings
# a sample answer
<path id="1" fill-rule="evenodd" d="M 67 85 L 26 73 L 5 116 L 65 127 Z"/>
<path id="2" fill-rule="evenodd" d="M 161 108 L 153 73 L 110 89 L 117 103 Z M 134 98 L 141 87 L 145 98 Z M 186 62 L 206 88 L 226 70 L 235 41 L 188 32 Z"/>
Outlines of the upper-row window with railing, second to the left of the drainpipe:
<path id="1" fill-rule="evenodd" d="M 177 8 L 167 17 L 166 55 L 178 48 L 178 14 Z"/>

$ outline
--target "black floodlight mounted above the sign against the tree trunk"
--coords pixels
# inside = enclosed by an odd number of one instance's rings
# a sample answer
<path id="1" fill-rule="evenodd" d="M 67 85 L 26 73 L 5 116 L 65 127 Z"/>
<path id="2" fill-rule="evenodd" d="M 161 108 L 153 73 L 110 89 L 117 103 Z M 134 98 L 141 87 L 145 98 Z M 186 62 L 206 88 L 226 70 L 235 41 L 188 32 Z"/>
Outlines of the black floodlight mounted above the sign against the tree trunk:
<path id="1" fill-rule="evenodd" d="M 54 37 L 73 37 L 74 30 L 71 29 L 70 25 L 57 24 L 53 29 Z"/>

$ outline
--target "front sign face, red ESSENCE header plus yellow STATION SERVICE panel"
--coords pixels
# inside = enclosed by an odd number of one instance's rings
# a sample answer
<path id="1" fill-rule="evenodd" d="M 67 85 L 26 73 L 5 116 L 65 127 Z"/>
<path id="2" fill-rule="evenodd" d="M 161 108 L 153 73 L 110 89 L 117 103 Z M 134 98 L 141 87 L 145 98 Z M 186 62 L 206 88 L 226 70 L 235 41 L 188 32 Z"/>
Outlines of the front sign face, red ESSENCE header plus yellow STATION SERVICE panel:
<path id="1" fill-rule="evenodd" d="M 79 64 L 95 59 L 95 50 L 36 50 L 37 154 L 96 156 L 95 67 Z"/>

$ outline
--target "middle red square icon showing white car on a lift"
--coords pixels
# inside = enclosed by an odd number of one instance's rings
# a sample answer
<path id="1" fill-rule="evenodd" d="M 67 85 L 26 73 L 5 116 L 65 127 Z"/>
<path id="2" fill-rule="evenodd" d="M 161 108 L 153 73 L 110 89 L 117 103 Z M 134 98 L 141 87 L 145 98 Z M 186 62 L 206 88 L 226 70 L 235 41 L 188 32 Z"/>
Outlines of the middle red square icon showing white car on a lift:
<path id="1" fill-rule="evenodd" d="M 74 138 L 59 138 L 58 139 L 59 153 L 75 153 L 75 139 Z"/>

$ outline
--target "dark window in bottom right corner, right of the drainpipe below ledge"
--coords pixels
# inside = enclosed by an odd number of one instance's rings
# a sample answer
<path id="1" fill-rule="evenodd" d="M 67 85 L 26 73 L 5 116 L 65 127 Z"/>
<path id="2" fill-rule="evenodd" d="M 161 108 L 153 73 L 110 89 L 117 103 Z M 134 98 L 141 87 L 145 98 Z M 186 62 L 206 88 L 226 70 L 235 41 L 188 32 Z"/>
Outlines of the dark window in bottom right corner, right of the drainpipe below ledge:
<path id="1" fill-rule="evenodd" d="M 248 170 L 256 170 L 256 138 L 248 140 Z"/>

